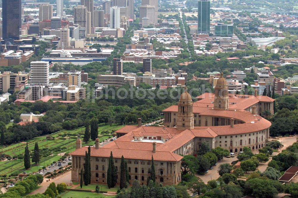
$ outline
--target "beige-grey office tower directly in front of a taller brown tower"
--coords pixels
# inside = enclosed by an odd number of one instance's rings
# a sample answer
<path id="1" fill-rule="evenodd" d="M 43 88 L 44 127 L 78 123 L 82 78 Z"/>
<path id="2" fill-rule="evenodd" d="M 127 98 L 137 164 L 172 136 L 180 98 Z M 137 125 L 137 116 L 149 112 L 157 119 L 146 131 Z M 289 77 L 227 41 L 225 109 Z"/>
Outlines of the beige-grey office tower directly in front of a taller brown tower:
<path id="1" fill-rule="evenodd" d="M 74 7 L 74 24 L 85 27 L 87 34 L 91 33 L 91 15 L 86 6 L 78 5 Z"/>

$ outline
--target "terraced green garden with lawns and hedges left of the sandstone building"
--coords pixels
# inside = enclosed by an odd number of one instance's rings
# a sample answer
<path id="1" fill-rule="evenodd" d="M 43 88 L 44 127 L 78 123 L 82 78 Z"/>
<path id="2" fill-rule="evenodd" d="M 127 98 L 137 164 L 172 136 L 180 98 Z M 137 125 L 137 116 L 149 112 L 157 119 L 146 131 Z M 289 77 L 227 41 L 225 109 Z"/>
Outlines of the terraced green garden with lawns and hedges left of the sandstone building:
<path id="1" fill-rule="evenodd" d="M 98 134 L 100 141 L 107 140 L 112 135 L 110 132 L 112 130 L 120 129 L 122 125 L 113 124 L 112 126 L 100 126 L 98 128 Z M 35 137 L 32 140 L 27 142 L 15 143 L 10 146 L 0 147 L 0 154 L 6 154 L 13 157 L 13 160 L 9 161 L 0 161 L 0 176 L 10 175 L 10 174 L 19 174 L 25 171 L 24 160 L 22 159 L 22 154 L 25 152 L 26 144 L 28 143 L 29 151 L 34 150 L 35 142 L 38 142 L 38 147 L 40 150 L 40 163 L 38 165 L 31 164 L 31 168 L 26 170 L 27 173 L 36 172 L 38 169 L 41 169 L 43 166 L 48 166 L 53 161 L 58 161 L 62 156 L 60 153 L 70 153 L 75 151 L 75 142 L 77 139 L 77 134 L 83 136 L 85 132 L 85 127 L 78 128 L 75 130 L 63 130 L 51 134 L 54 139 L 46 139 L 46 135 Z M 94 141 L 90 141 L 87 144 L 83 143 L 83 146 L 95 144 Z M 31 154 L 31 153 L 30 153 Z M 59 154 L 59 155 L 58 155 Z"/>

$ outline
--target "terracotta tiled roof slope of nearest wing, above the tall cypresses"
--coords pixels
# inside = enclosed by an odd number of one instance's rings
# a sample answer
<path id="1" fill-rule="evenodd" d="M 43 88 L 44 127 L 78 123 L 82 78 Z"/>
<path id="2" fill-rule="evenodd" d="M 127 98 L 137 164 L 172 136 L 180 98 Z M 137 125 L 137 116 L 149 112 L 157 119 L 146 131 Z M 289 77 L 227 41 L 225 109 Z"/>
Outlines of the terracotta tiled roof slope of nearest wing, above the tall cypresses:
<path id="1" fill-rule="evenodd" d="M 76 156 L 76 155 L 84 156 L 86 151 L 88 151 L 88 147 L 84 146 L 80 149 L 75 150 L 70 154 L 72 156 Z M 111 151 L 113 153 L 114 158 L 121 158 L 123 155 L 123 157 L 125 157 L 126 159 L 151 160 L 151 156 L 153 156 L 153 159 L 156 161 L 171 161 L 171 162 L 177 162 L 183 158 L 181 155 L 177 155 L 167 151 L 156 150 L 156 152 L 153 153 L 152 151 L 144 151 L 144 150 L 140 152 L 139 150 L 132 150 L 132 149 L 110 149 L 110 148 L 95 149 L 95 147 L 91 147 L 91 156 L 108 158 L 110 157 Z"/>

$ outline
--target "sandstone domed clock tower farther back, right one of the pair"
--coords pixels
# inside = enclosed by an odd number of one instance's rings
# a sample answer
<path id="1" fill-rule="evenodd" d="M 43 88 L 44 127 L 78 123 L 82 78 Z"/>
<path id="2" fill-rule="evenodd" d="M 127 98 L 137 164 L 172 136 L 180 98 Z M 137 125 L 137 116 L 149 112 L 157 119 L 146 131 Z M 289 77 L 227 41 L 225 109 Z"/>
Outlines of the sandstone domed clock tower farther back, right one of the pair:
<path id="1" fill-rule="evenodd" d="M 226 83 L 226 79 L 224 79 L 222 72 L 221 72 L 221 76 L 217 80 L 214 92 L 215 92 L 214 109 L 228 110 L 229 109 L 228 85 Z"/>

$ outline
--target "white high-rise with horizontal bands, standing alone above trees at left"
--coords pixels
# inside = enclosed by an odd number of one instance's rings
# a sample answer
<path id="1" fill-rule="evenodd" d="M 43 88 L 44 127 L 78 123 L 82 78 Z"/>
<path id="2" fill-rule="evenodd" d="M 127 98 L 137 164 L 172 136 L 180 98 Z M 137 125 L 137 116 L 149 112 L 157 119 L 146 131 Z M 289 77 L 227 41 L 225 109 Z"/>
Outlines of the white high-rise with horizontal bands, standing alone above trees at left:
<path id="1" fill-rule="evenodd" d="M 49 62 L 32 61 L 30 67 L 31 84 L 48 85 L 49 84 Z"/>

